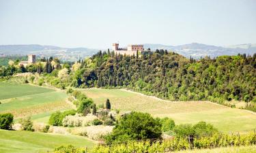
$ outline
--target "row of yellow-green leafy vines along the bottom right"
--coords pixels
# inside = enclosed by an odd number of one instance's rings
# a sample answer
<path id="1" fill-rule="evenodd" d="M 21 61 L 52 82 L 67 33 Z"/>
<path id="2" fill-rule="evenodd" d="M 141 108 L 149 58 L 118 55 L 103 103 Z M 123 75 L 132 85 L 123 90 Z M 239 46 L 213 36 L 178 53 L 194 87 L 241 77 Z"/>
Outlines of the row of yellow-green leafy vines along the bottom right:
<path id="1" fill-rule="evenodd" d="M 180 150 L 213 149 L 233 146 L 252 146 L 256 144 L 256 134 L 227 135 L 215 134 L 209 137 L 173 137 L 168 140 L 148 139 L 142 141 L 128 141 L 113 144 L 111 146 L 97 146 L 91 153 L 117 153 L 117 152 L 175 152 Z"/>

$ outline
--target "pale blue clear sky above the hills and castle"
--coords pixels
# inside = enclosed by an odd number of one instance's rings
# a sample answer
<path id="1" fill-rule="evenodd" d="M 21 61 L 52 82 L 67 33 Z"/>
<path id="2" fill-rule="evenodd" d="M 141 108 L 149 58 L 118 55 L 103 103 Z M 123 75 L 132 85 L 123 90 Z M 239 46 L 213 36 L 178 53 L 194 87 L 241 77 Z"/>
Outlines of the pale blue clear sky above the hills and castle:
<path id="1" fill-rule="evenodd" d="M 256 43 L 255 0 L 0 0 L 0 45 Z"/>

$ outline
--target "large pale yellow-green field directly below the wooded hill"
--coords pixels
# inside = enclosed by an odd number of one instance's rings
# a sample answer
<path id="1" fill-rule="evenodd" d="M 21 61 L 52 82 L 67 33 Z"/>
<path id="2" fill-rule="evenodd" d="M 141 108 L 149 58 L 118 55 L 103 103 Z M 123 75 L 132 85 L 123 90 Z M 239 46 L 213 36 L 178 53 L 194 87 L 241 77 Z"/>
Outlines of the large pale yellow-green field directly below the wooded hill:
<path id="1" fill-rule="evenodd" d="M 97 104 L 105 103 L 109 98 L 113 109 L 122 112 L 148 112 L 154 116 L 168 116 L 176 124 L 199 121 L 210 122 L 223 132 L 246 132 L 256 128 L 256 115 L 242 109 L 234 109 L 215 103 L 189 101 L 171 102 L 154 99 L 138 93 L 124 90 L 83 89 L 87 97 L 91 97 Z"/>

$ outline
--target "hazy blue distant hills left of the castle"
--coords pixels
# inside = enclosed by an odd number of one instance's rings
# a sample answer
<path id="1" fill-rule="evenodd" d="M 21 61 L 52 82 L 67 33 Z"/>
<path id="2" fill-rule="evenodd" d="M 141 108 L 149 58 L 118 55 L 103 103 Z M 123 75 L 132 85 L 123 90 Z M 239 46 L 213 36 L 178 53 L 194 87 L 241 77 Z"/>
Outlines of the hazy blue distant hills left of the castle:
<path id="1" fill-rule="evenodd" d="M 61 48 L 58 46 L 41 45 L 2 45 L 0 46 L 0 55 L 27 55 L 35 54 L 37 56 L 55 56 L 63 61 L 77 61 L 86 56 L 95 54 L 98 50 L 89 48 Z"/>

